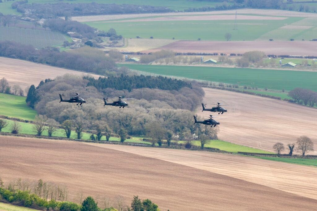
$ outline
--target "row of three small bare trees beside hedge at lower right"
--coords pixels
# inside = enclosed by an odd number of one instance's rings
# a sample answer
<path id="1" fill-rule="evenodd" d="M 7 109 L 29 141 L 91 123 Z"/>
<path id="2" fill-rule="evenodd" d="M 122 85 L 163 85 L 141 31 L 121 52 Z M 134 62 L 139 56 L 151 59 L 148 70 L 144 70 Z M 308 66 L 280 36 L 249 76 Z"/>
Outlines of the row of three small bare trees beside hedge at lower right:
<path id="1" fill-rule="evenodd" d="M 307 136 L 301 136 L 297 139 L 296 142 L 297 148 L 295 144 L 288 144 L 289 153 L 288 156 L 292 156 L 294 151 L 301 152 L 301 155 L 305 157 L 305 154 L 309 151 L 314 151 L 314 142 Z M 285 150 L 284 144 L 281 142 L 277 142 L 273 145 L 274 151 L 277 155 L 281 155 L 281 152 Z"/>

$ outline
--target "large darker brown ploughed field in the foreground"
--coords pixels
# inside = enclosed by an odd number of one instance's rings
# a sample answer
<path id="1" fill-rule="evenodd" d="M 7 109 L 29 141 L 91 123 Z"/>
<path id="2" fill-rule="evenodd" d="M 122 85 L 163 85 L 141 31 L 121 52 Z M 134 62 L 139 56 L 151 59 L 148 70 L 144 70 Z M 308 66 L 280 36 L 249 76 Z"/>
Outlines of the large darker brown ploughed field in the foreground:
<path id="1" fill-rule="evenodd" d="M 0 137 L 0 147 L 4 181 L 42 178 L 68 186 L 69 193 L 120 194 L 126 204 L 139 195 L 161 210 L 313 210 L 317 206 L 317 200 L 256 183 L 84 143 Z"/>

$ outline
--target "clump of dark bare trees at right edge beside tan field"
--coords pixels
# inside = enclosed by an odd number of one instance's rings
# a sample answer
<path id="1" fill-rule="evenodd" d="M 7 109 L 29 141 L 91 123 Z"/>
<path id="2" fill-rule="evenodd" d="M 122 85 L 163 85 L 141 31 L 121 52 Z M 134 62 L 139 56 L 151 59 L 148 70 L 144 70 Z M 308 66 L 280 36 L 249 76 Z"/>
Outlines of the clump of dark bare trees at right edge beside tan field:
<path id="1" fill-rule="evenodd" d="M 311 107 L 317 102 L 317 92 L 309 89 L 295 88 L 289 91 L 288 96 L 294 99 L 295 103 L 304 104 Z"/>

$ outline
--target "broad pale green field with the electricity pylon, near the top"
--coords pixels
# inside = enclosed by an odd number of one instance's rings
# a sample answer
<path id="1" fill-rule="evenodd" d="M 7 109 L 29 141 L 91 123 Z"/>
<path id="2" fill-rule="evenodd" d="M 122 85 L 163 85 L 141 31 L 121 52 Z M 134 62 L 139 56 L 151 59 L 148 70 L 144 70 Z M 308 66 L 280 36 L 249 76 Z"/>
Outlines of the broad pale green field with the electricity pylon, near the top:
<path id="1" fill-rule="evenodd" d="M 234 20 L 142 21 L 142 19 L 138 19 L 139 22 L 99 21 L 86 23 L 102 30 L 115 28 L 118 34 L 122 34 L 126 38 L 135 38 L 136 36 L 149 38 L 153 36 L 154 39 L 175 37 L 177 40 L 197 40 L 201 38 L 202 40 L 225 41 L 224 34 L 229 32 L 232 34 L 232 41 L 242 41 L 256 40 L 270 31 L 302 19 L 301 17 L 288 17 L 284 20 L 239 20 L 239 30 L 233 30 Z M 311 35 L 311 39 L 313 39 L 313 36 Z M 275 39 L 275 36 L 273 35 L 271 38 Z M 288 40 L 288 37 L 285 37 L 284 40 Z"/>

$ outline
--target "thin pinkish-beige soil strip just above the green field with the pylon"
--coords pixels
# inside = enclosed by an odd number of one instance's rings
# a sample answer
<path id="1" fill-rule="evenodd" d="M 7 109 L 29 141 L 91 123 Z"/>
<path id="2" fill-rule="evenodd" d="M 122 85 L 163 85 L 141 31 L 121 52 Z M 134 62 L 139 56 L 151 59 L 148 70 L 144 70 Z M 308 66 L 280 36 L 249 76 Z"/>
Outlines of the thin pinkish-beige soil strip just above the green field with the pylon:
<path id="1" fill-rule="evenodd" d="M 146 22 L 146 21 L 210 21 L 210 20 L 234 20 L 235 15 L 205 15 L 205 16 L 163 16 L 156 18 L 131 19 L 113 22 Z M 286 17 L 273 16 L 246 16 L 239 15 L 239 20 L 284 20 Z"/>

